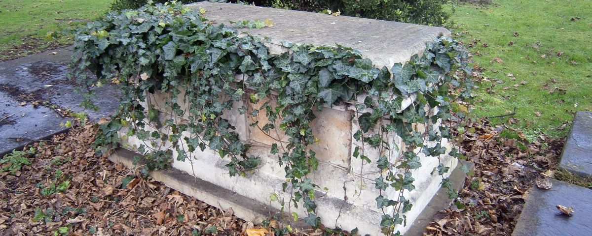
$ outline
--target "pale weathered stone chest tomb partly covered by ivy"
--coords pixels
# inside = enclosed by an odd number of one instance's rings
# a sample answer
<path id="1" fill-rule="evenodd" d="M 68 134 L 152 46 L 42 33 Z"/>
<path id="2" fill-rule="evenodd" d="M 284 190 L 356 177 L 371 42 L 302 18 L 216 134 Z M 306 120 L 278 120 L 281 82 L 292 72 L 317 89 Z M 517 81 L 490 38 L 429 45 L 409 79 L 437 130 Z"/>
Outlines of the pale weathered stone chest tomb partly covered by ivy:
<path id="1" fill-rule="evenodd" d="M 245 6 L 236 4 L 220 4 L 211 2 L 201 2 L 188 5 L 191 8 L 204 8 L 205 17 L 218 22 L 226 23 L 228 21 L 242 20 L 263 20 L 271 19 L 273 27 L 260 30 L 245 30 L 249 34 L 258 37 L 271 37 L 272 41 L 267 45 L 272 53 L 282 53 L 286 49 L 282 48 L 281 42 L 294 42 L 297 44 L 314 45 L 335 45 L 341 44 L 346 47 L 353 47 L 362 52 L 364 57 L 370 58 L 377 67 L 383 65 L 390 68 L 394 63 L 404 63 L 409 60 L 411 55 L 420 54 L 424 45 L 428 41 L 440 35 L 449 35 L 450 32 L 445 28 L 427 27 L 422 25 L 403 24 L 398 22 L 377 21 L 372 19 L 362 19 L 353 17 L 333 17 L 332 15 L 316 14 L 310 12 L 287 11 L 282 9 L 260 8 L 256 6 Z M 238 79 L 243 79 L 237 75 Z M 168 94 L 147 94 L 146 102 L 159 110 L 160 116 L 172 116 L 170 109 L 164 106 Z M 404 106 L 410 106 L 415 96 L 404 98 Z M 273 98 L 272 103 L 273 103 Z M 363 101 L 363 97 L 359 98 Z M 179 96 L 178 104 L 182 109 L 188 110 L 191 104 L 186 104 L 182 96 Z M 282 192 L 282 183 L 286 181 L 284 168 L 279 166 L 277 156 L 269 154 L 274 139 L 286 139 L 278 130 L 270 134 L 263 133 L 256 127 L 250 127 L 249 123 L 253 120 L 259 120 L 260 125 L 267 121 L 265 116 L 250 117 L 249 112 L 240 114 L 237 108 L 246 106 L 252 109 L 263 104 L 265 100 L 258 104 L 252 104 L 248 101 L 235 101 L 234 109 L 225 114 L 226 119 L 230 121 L 235 130 L 239 133 L 240 139 L 252 145 L 250 155 L 259 156 L 262 160 L 258 168 L 246 173 L 244 176 L 229 176 L 226 164 L 227 159 L 221 159 L 218 153 L 206 149 L 204 152 L 196 150 L 192 153 L 191 160 L 185 162 L 175 160 L 173 168 L 186 172 L 193 176 L 195 182 L 208 182 L 215 185 L 215 188 L 221 188 L 224 191 L 230 191 L 242 196 L 244 199 L 269 208 L 270 212 L 279 212 L 281 205 L 278 200 L 271 201 L 270 196 L 275 194 L 278 199 L 290 199 L 289 189 Z M 310 175 L 313 182 L 320 186 L 316 192 L 317 215 L 321 218 L 322 224 L 329 228 L 339 227 L 343 230 L 352 230 L 358 228 L 362 234 L 381 235 L 379 223 L 382 217 L 382 211 L 377 209 L 375 198 L 379 195 L 374 188 L 374 179 L 379 175 L 375 162 L 378 155 L 369 157 L 371 164 L 362 165 L 361 159 L 352 158 L 353 149 L 361 143 L 353 139 L 353 134 L 359 130 L 355 111 L 350 104 L 339 104 L 338 106 L 325 107 L 320 113 L 317 113 L 317 119 L 310 124 L 314 135 L 320 140 L 317 145 L 310 149 L 317 153 L 320 163 L 318 171 Z M 184 122 L 184 117 L 175 117 L 178 122 Z M 436 124 L 437 125 L 437 124 Z M 435 125 L 435 127 L 437 127 Z M 425 129 L 421 124 L 416 125 L 417 129 Z M 166 127 L 160 130 L 166 132 Z M 121 135 L 126 130 L 121 130 Z M 188 135 L 188 134 L 186 134 Z M 269 136 L 272 136 L 273 139 Z M 134 137 L 127 137 L 122 146 L 128 149 L 134 149 L 141 140 Z M 388 155 L 390 162 L 396 162 L 400 153 L 404 150 L 404 144 L 394 133 L 389 137 L 392 152 Z M 446 140 L 443 140 L 446 142 Z M 433 146 L 435 143 L 426 143 Z M 163 145 L 168 146 L 168 145 Z M 443 143 L 443 146 L 450 149 L 450 145 Z M 371 149 L 366 149 L 372 152 Z M 374 150 L 375 151 L 375 150 Z M 375 152 L 374 154 L 377 154 Z M 117 153 L 115 154 L 117 155 Z M 173 150 L 173 159 L 176 159 L 176 153 Z M 457 160 L 450 156 L 441 156 L 440 159 L 446 166 L 452 169 L 457 165 Z M 115 157 L 112 160 L 121 159 Z M 406 212 L 407 225 L 400 226 L 395 230 L 406 232 L 414 220 L 426 207 L 430 199 L 439 190 L 441 177 L 434 171 L 438 165 L 436 157 L 421 158 L 422 167 L 413 170 L 413 178 L 416 179 L 414 191 L 405 191 L 405 197 L 410 199 L 413 204 L 411 211 Z M 160 178 L 167 183 L 166 178 Z M 191 181 L 185 181 L 191 184 Z M 167 183 L 169 184 L 169 183 Z M 186 186 L 169 184 L 185 194 L 195 195 L 198 198 L 202 196 L 199 193 L 187 191 Z M 185 189 L 185 191 L 184 191 Z M 323 190 L 328 189 L 328 190 Z M 384 193 L 385 197 L 397 199 L 397 192 L 391 189 L 391 192 Z M 202 199 L 208 204 L 221 208 L 233 207 L 234 214 L 237 217 L 246 220 L 252 220 L 258 224 L 263 218 L 272 217 L 272 215 L 255 214 L 249 211 L 249 204 L 227 204 L 223 199 L 206 198 Z M 234 196 L 229 196 L 234 198 Z M 296 212 L 300 217 L 307 214 L 303 207 L 298 209 L 292 207 L 288 209 L 288 203 L 285 205 L 285 212 Z M 245 209 L 237 209 L 245 208 Z M 392 214 L 392 213 L 391 213 Z"/>

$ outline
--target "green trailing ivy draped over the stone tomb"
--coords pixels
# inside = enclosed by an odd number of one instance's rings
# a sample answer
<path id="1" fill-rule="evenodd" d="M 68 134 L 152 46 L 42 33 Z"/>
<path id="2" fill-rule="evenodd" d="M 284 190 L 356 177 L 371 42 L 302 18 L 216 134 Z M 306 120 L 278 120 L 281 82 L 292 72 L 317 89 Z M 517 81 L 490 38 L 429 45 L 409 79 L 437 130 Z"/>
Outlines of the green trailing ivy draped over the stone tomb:
<path id="1" fill-rule="evenodd" d="M 259 124 L 253 119 L 252 127 L 289 137 L 276 140 L 271 148 L 288 179 L 282 190 L 291 192 L 288 204 L 307 209 L 304 221 L 318 227 L 314 202 L 318 186 L 307 177 L 318 166 L 316 153 L 308 149 L 317 141 L 309 124 L 324 106 L 349 102 L 358 110 L 361 127 L 354 137 L 362 146 L 353 157 L 369 163 L 369 149 L 382 153 L 375 163 L 382 170 L 375 187 L 383 193 L 394 189 L 398 196 L 378 196 L 377 207 L 384 212 L 379 224 L 385 234 L 398 234 L 393 232 L 395 226 L 406 224 L 404 212 L 411 209 L 403 192 L 414 189 L 410 171 L 420 167 L 419 153 L 456 156 L 455 150 L 447 153 L 440 146 L 443 138 L 450 137 L 449 128 L 430 124 L 448 120 L 454 101 L 470 96 L 470 81 L 463 76 L 469 69 L 466 50 L 441 37 L 405 64 L 376 68 L 361 53 L 342 45 L 285 43 L 289 52 L 274 55 L 269 54 L 266 40 L 239 36 L 236 30 L 215 25 L 200 12 L 175 3 L 108 14 L 79 28 L 73 76 L 83 89 L 115 83 L 124 94 L 120 112 L 101 125 L 94 143 L 98 152 L 116 146 L 118 132 L 126 127 L 124 137 L 143 140 L 136 147 L 139 152 L 160 160 L 162 165 L 153 169 L 166 167 L 164 156 L 172 152 L 164 149 L 174 150 L 178 160 L 191 162 L 192 152 L 209 148 L 230 160 L 231 176 L 242 175 L 256 168 L 260 159 L 248 154 L 249 145 L 240 141 L 224 116 L 238 106 L 241 114 L 265 116 L 269 121 Z M 165 104 L 170 113 L 157 110 L 148 98 L 159 92 L 170 94 Z M 404 107 L 404 99 L 410 96 L 415 99 Z M 363 103 L 356 102 L 359 97 L 365 97 Z M 189 110 L 179 106 L 178 98 L 190 104 Z M 262 105 L 253 109 L 256 106 L 239 101 Z M 179 122 L 178 117 L 188 122 Z M 423 132 L 417 131 L 419 124 L 426 127 Z M 395 151 L 391 133 L 406 145 L 397 160 L 385 154 Z M 430 142 L 436 144 L 424 146 Z M 440 163 L 439 175 L 447 171 Z M 443 186 L 449 187 L 448 179 L 443 178 Z"/>

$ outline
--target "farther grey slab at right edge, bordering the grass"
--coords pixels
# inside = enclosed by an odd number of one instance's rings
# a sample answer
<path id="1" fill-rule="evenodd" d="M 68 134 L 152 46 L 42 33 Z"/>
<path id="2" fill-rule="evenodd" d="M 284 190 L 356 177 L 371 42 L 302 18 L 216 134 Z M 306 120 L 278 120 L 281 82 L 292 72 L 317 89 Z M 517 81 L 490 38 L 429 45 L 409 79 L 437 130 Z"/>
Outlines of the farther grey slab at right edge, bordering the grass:
<path id="1" fill-rule="evenodd" d="M 559 168 L 580 176 L 592 177 L 592 112 L 575 113 L 574 123 L 571 124 L 561 153 Z"/>

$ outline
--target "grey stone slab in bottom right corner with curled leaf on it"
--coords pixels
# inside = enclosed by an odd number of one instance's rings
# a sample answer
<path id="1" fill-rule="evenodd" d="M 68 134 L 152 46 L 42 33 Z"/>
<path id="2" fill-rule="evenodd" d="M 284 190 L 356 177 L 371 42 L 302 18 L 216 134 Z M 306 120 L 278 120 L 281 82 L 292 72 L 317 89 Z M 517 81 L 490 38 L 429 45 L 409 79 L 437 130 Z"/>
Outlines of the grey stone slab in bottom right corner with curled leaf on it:
<path id="1" fill-rule="evenodd" d="M 551 179 L 551 189 L 530 189 L 513 236 L 592 235 L 592 189 Z M 569 217 L 555 205 L 573 207 Z"/>

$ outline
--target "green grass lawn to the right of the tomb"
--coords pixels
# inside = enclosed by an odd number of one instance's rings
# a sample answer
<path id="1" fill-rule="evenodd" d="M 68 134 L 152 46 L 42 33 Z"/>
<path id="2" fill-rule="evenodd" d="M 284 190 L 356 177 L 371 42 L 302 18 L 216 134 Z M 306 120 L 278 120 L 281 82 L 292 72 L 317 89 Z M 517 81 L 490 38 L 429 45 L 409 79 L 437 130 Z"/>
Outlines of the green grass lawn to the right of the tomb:
<path id="1" fill-rule="evenodd" d="M 466 45 L 476 42 L 469 51 L 475 63 L 485 68 L 482 75 L 491 81 L 477 84 L 480 89 L 472 110 L 476 116 L 497 116 L 516 107 L 514 117 L 520 122 L 513 127 L 527 135 L 542 132 L 561 137 L 569 127 L 558 127 L 571 122 L 575 111 L 592 110 L 589 0 L 459 4 L 452 19 L 455 38 Z M 496 83 L 500 80 L 503 83 Z M 494 124 L 507 120 L 491 119 Z"/>

